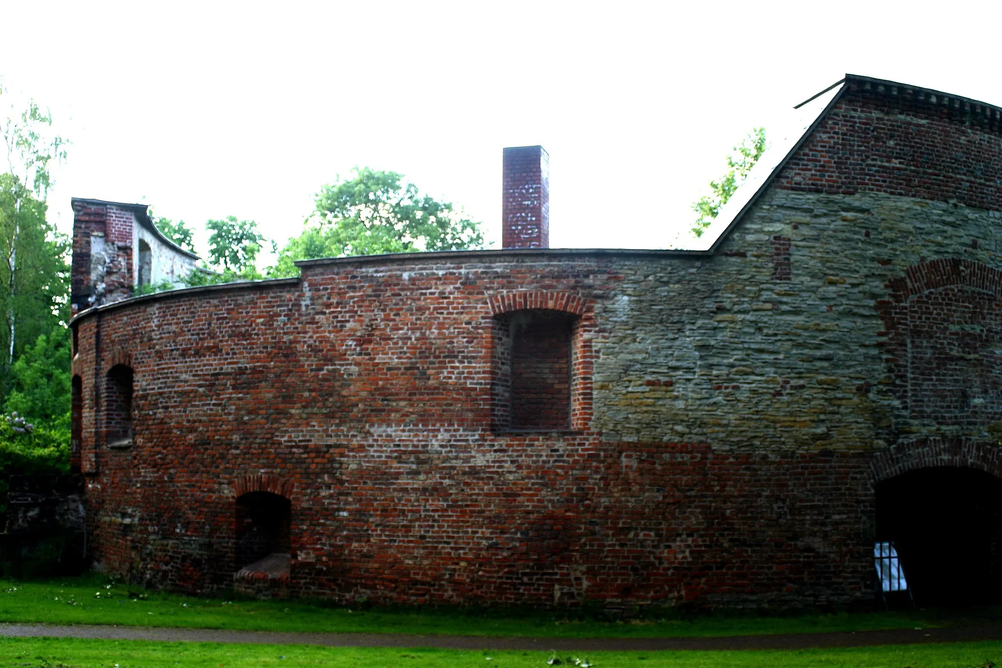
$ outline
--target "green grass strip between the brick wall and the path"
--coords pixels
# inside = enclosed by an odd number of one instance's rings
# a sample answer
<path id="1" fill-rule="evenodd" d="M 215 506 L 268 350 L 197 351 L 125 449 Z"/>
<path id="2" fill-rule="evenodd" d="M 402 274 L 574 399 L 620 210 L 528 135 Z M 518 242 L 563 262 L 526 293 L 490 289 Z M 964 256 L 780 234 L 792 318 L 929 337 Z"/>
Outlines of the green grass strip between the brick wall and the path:
<path id="1" fill-rule="evenodd" d="M 955 623 L 921 611 L 797 617 L 668 616 L 631 622 L 578 619 L 575 612 L 402 608 L 361 610 L 309 601 L 204 599 L 111 584 L 98 575 L 0 580 L 0 621 L 118 624 L 253 631 L 414 633 L 550 638 L 714 636 L 861 631 Z M 670 615 L 670 613 L 667 613 Z M 978 621 L 986 621 L 981 618 Z"/>

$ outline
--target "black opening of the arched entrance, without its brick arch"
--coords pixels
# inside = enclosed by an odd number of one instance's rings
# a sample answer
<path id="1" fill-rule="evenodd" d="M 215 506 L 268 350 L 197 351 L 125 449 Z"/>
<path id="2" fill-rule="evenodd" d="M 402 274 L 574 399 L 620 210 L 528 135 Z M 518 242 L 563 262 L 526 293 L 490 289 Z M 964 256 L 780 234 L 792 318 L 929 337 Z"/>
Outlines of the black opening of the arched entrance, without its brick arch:
<path id="1" fill-rule="evenodd" d="M 1000 600 L 1002 481 L 959 467 L 909 471 L 877 485 L 877 540 L 894 541 L 919 605 Z"/>

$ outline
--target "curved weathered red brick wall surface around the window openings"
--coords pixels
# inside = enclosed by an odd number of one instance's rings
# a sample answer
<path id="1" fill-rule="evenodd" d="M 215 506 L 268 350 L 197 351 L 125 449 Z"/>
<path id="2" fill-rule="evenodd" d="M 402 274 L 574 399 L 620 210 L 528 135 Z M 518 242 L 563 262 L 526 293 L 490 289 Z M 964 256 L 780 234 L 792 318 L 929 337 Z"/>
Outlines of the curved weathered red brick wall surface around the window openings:
<path id="1" fill-rule="evenodd" d="M 150 584 L 226 586 L 236 498 L 262 489 L 292 502 L 290 587 L 304 595 L 868 595 L 865 454 L 606 440 L 589 427 L 592 379 L 580 377 L 578 432 L 491 430 L 497 311 L 561 307 L 576 318 L 575 350 L 590 351 L 609 326 L 593 307 L 626 277 L 614 264 L 413 259 L 320 266 L 302 284 L 166 295 L 80 320 L 96 562 Z M 134 446 L 106 450 L 95 438 L 102 398 L 90 392 L 126 359 Z M 590 373 L 578 363 L 575 352 Z"/>

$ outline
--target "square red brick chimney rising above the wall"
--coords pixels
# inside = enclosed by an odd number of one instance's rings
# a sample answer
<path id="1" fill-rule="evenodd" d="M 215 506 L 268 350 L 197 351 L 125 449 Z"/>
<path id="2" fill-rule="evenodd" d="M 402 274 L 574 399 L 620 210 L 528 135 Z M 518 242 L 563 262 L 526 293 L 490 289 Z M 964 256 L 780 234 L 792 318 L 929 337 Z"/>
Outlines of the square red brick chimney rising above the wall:
<path id="1" fill-rule="evenodd" d="M 501 245 L 550 247 L 550 156 L 542 146 L 504 149 Z"/>

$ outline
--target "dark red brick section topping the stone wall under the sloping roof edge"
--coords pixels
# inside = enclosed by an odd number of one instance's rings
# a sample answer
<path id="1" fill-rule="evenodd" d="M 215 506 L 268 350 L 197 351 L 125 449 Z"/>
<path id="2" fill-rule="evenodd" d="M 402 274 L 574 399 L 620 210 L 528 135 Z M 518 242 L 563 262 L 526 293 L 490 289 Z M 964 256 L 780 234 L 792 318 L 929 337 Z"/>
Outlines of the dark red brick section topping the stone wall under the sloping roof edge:
<path id="1" fill-rule="evenodd" d="M 878 94 L 852 83 L 776 187 L 829 194 L 883 192 L 1002 208 L 1002 130 L 935 96 Z M 996 112 L 997 114 L 997 112 Z"/>

